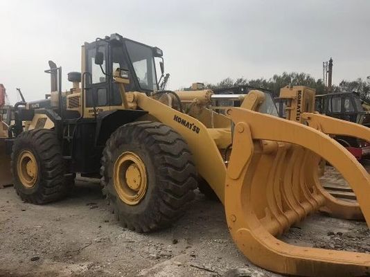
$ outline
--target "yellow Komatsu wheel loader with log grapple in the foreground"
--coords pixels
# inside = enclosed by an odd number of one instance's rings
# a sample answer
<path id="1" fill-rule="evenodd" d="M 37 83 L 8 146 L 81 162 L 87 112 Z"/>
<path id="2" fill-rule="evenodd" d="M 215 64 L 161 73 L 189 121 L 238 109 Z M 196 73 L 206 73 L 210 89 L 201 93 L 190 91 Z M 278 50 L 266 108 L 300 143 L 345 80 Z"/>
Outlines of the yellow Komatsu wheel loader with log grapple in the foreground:
<path id="1" fill-rule="evenodd" d="M 302 113 L 299 101 L 299 114 L 312 127 L 263 114 L 261 107 L 273 101 L 258 90 L 219 114 L 212 100 L 235 96 L 158 91 L 158 63 L 164 75 L 157 47 L 118 34 L 97 38 L 82 46 L 81 73 L 69 73 L 73 87 L 62 91 L 62 69 L 49 62 L 51 93 L 16 108 L 6 139 L 21 199 L 45 204 L 64 197 L 76 173 L 101 177 L 121 224 L 149 232 L 186 212 L 202 178 L 224 205 L 234 242 L 256 265 L 296 276 L 370 274 L 367 253 L 279 240 L 323 208 L 370 224 L 369 174 L 325 134 L 327 122 L 340 120 Z M 363 135 L 369 138 L 369 131 Z M 321 159 L 342 173 L 358 204 L 345 206 L 321 190 Z"/>

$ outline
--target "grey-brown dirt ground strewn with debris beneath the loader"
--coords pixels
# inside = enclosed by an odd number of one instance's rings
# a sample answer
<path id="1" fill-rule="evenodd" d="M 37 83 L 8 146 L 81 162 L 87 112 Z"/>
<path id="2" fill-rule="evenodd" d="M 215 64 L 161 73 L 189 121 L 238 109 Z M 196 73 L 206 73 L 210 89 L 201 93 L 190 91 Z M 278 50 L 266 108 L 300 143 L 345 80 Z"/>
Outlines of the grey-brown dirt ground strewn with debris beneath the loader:
<path id="1" fill-rule="evenodd" d="M 328 179 L 335 176 L 328 170 Z M 0 276 L 222 276 L 240 267 L 250 276 L 279 276 L 238 251 L 222 205 L 200 193 L 174 226 L 150 234 L 123 229 L 96 182 L 77 181 L 72 195 L 36 206 L 21 202 L 13 188 L 0 190 Z M 369 234 L 364 222 L 315 214 L 281 240 L 369 252 Z"/>

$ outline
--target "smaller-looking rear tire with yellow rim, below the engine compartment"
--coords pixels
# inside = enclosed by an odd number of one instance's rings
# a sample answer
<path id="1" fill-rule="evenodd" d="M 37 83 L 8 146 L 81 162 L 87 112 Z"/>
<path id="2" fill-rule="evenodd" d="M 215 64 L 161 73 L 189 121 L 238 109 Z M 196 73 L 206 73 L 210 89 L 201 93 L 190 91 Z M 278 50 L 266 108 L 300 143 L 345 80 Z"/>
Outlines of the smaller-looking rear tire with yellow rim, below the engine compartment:
<path id="1" fill-rule="evenodd" d="M 56 201 L 67 195 L 73 183 L 71 177 L 65 176 L 60 143 L 52 130 L 33 129 L 19 134 L 11 160 L 14 187 L 25 202 Z"/>

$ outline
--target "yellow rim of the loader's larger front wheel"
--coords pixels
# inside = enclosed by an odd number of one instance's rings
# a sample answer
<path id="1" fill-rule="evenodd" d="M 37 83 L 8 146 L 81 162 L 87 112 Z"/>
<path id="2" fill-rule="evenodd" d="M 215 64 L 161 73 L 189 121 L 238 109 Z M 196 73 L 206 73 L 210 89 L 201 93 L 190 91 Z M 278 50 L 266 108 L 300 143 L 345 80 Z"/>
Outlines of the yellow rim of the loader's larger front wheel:
<path id="1" fill-rule="evenodd" d="M 146 166 L 133 152 L 123 152 L 114 163 L 114 188 L 128 205 L 136 205 L 146 195 Z"/>

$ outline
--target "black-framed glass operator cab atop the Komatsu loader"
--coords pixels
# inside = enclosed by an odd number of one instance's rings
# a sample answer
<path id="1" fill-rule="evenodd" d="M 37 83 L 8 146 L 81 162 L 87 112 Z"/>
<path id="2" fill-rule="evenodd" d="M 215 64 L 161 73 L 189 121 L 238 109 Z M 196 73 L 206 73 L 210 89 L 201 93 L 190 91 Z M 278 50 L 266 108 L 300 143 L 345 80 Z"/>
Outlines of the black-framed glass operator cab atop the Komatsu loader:
<path id="1" fill-rule="evenodd" d="M 150 95 L 158 90 L 156 58 L 159 58 L 161 74 L 164 73 L 163 53 L 157 47 L 148 46 L 118 34 L 112 34 L 95 42 L 85 43 L 86 107 L 121 106 L 118 84 L 113 82 L 117 68 L 129 72 L 130 83 L 126 91 L 141 91 Z M 84 62 L 82 61 L 82 66 Z"/>

